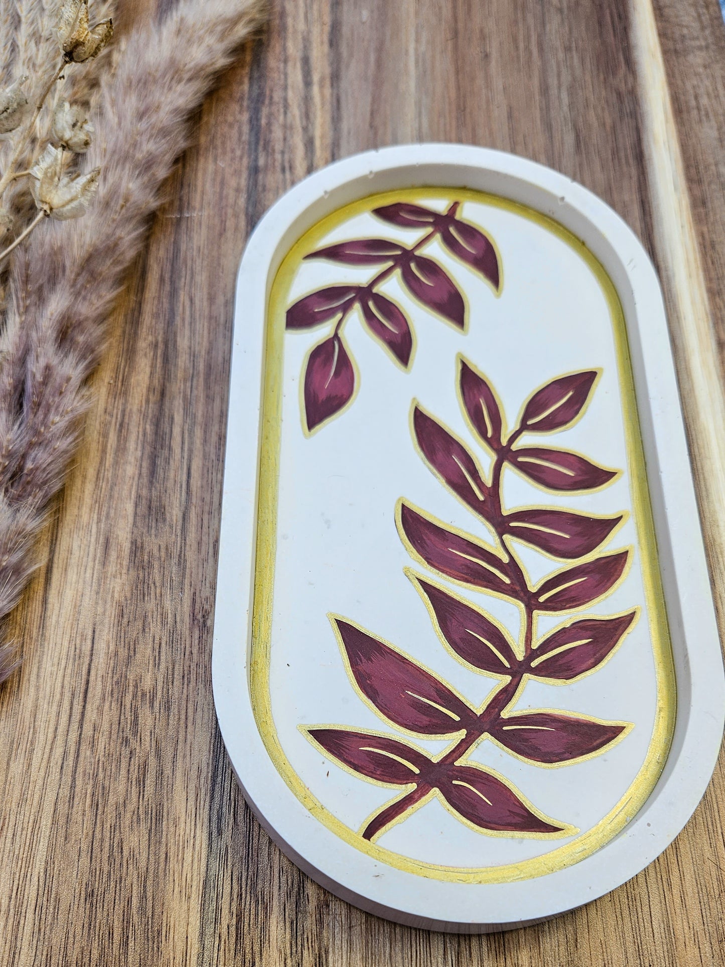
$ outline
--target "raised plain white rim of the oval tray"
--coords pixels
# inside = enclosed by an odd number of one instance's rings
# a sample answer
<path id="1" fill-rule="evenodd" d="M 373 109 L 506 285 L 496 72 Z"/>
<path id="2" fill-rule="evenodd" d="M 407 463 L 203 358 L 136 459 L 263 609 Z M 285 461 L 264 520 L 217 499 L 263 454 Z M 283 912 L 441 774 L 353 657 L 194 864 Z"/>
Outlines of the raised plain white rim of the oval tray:
<path id="1" fill-rule="evenodd" d="M 645 806 L 620 835 L 585 860 L 507 884 L 423 879 L 377 863 L 340 840 L 276 771 L 257 730 L 247 684 L 263 336 L 272 282 L 286 252 L 317 221 L 366 195 L 416 187 L 488 191 L 528 205 L 580 238 L 612 278 L 629 337 L 673 641 L 675 734 Z M 318 883 L 398 923 L 459 932 L 534 923 L 620 886 L 680 833 L 714 769 L 725 719 L 725 676 L 659 283 L 632 230 L 591 191 L 504 152 L 458 144 L 402 145 L 333 162 L 284 194 L 259 222 L 237 281 L 212 671 L 222 738 L 246 801 L 264 828 Z"/>

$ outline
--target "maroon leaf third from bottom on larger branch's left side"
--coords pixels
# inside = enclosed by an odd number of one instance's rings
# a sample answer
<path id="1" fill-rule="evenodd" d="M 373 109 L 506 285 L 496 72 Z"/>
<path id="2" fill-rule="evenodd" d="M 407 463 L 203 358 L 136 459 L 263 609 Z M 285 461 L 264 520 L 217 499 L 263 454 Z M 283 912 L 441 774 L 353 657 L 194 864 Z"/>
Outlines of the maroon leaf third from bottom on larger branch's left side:
<path id="1" fill-rule="evenodd" d="M 441 634 L 456 655 L 481 671 L 510 674 L 518 659 L 507 635 L 484 611 L 453 598 L 443 588 L 420 577 L 418 583 L 430 601 Z"/>

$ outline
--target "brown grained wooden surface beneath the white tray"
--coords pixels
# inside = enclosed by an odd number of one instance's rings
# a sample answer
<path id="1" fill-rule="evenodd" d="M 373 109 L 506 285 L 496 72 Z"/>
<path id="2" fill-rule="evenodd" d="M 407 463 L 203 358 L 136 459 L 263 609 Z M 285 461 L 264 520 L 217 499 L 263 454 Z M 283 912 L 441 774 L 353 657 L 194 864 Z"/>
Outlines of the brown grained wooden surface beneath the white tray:
<path id="1" fill-rule="evenodd" d="M 127 22 L 148 6 L 131 0 Z M 721 358 L 725 26 L 716 0 L 655 0 L 655 15 Z M 725 963 L 722 767 L 676 842 L 619 890 L 527 929 L 445 936 L 365 915 L 279 854 L 232 777 L 212 702 L 233 286 L 249 230 L 335 158 L 489 145 L 613 205 L 660 260 L 672 304 L 635 47 L 616 0 L 276 0 L 265 43 L 207 103 L 169 185 L 114 317 L 47 564 L 16 614 L 25 664 L 0 691 L 0 964 Z M 682 402 L 707 524 L 707 414 Z"/>

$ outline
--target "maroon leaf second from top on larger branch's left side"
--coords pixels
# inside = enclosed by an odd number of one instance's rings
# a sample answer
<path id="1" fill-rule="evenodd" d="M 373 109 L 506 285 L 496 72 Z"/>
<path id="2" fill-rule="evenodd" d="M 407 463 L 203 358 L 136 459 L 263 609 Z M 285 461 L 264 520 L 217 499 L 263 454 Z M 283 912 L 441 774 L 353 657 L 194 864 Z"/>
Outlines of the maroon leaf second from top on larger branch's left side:
<path id="1" fill-rule="evenodd" d="M 480 476 L 473 456 L 419 406 L 413 411 L 413 429 L 420 450 L 433 470 L 454 494 L 485 517 L 488 487 Z"/>

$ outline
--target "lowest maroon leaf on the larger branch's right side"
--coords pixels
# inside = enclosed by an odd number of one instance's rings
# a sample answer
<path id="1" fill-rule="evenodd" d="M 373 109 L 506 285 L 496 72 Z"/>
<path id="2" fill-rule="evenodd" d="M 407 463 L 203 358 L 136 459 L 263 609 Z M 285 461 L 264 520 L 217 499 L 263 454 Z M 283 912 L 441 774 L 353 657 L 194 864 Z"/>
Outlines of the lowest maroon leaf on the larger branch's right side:
<path id="1" fill-rule="evenodd" d="M 476 766 L 450 766 L 438 779 L 449 806 L 481 830 L 497 833 L 561 833 L 540 819 L 501 779 Z"/>

